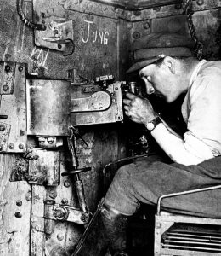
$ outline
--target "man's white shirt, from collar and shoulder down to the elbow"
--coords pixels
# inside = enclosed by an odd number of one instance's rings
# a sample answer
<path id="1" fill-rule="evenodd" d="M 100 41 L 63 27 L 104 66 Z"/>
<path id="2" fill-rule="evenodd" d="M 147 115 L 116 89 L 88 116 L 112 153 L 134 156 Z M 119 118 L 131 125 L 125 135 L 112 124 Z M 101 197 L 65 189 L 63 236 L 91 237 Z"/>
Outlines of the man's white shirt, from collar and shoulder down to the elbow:
<path id="1" fill-rule="evenodd" d="M 182 105 L 184 147 L 201 161 L 221 154 L 221 61 L 202 60 Z"/>

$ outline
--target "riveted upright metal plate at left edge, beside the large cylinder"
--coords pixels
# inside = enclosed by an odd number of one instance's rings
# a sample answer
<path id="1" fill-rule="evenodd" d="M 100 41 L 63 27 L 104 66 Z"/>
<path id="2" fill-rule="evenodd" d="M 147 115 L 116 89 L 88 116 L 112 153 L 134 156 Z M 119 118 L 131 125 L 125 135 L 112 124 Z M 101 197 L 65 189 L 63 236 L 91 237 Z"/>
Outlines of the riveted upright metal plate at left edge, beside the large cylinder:
<path id="1" fill-rule="evenodd" d="M 0 152 L 26 151 L 26 64 L 0 61 Z"/>

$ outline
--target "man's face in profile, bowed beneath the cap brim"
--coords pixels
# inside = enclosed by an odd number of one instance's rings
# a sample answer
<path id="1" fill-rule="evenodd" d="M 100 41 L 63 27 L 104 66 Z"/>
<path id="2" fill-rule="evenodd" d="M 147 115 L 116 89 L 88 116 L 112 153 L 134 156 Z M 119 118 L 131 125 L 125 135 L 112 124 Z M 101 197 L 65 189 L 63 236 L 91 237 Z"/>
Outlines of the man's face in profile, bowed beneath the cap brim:
<path id="1" fill-rule="evenodd" d="M 139 71 L 139 76 L 144 80 L 147 94 L 155 94 L 168 103 L 178 98 L 178 79 L 166 65 L 150 64 Z"/>

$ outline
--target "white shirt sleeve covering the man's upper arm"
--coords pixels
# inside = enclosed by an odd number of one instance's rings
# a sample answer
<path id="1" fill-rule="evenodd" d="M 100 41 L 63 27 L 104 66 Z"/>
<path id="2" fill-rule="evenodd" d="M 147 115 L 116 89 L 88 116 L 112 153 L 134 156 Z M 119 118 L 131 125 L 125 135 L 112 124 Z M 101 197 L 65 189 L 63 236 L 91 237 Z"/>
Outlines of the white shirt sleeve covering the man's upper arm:
<path id="1" fill-rule="evenodd" d="M 199 76 L 190 89 L 188 131 L 184 147 L 201 160 L 221 152 L 221 81 L 217 76 Z"/>

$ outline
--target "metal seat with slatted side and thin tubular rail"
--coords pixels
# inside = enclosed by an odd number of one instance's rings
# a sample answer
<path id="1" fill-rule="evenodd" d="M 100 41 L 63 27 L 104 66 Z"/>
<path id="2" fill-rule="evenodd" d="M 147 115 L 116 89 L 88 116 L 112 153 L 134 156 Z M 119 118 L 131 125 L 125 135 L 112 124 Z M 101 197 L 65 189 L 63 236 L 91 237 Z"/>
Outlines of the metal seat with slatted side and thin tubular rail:
<path id="1" fill-rule="evenodd" d="M 201 218 L 161 211 L 161 201 L 165 198 L 212 189 L 221 189 L 221 185 L 159 197 L 155 217 L 155 256 L 221 256 L 221 218 Z"/>

